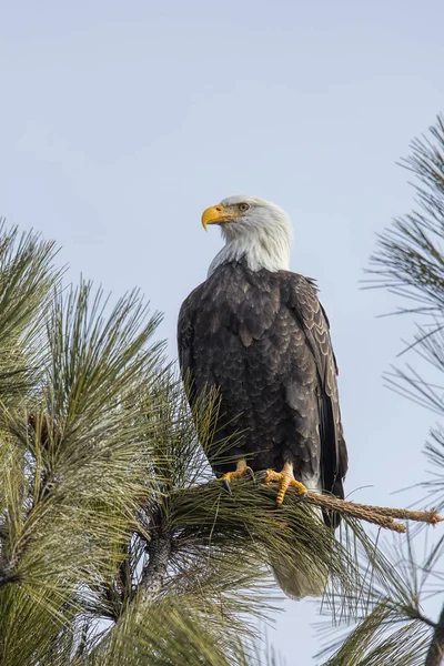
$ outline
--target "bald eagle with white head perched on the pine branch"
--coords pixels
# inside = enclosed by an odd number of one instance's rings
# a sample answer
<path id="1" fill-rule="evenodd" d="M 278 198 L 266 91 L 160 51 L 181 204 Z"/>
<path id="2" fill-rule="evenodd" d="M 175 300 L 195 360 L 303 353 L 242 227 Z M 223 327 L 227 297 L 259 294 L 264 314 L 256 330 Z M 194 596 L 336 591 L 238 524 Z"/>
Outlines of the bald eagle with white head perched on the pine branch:
<path id="1" fill-rule="evenodd" d="M 290 485 L 343 498 L 347 452 L 329 320 L 313 281 L 289 270 L 289 216 L 268 201 L 231 196 L 206 209 L 202 224 L 218 224 L 225 245 L 182 304 L 178 342 L 191 407 L 209 387 L 220 391 L 214 473 L 228 485 L 266 471 L 265 481 L 279 483 L 278 504 Z M 221 441 L 233 442 L 224 460 Z M 337 515 L 323 517 L 337 526 Z M 289 596 L 322 593 L 324 576 L 274 569 Z"/>

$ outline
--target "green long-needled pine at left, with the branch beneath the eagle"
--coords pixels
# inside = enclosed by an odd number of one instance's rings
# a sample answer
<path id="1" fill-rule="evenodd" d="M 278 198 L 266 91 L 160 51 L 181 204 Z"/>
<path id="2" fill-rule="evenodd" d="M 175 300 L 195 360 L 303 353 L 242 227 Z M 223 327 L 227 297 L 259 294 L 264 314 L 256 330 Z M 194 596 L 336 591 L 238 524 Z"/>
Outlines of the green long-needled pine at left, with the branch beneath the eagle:
<path id="1" fill-rule="evenodd" d="M 1 665 L 260 664 L 275 558 L 329 567 L 329 599 L 353 596 L 350 535 L 212 478 L 218 396 L 194 414 L 198 441 L 138 292 L 113 304 L 64 285 L 54 244 L 4 222 L 0 249 Z"/>

